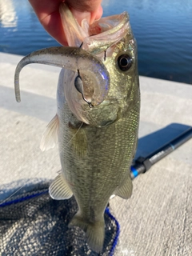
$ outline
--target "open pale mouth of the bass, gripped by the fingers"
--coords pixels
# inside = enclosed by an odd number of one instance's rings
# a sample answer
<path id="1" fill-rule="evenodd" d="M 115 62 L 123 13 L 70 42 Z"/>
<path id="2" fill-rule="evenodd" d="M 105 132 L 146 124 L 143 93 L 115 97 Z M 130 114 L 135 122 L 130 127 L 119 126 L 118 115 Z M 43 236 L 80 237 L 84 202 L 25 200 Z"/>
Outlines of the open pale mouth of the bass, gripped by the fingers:
<path id="1" fill-rule="evenodd" d="M 83 50 L 92 54 L 98 55 L 105 52 L 124 38 L 130 30 L 130 18 L 126 11 L 122 14 L 100 18 L 91 25 L 83 19 L 81 26 L 65 2 L 60 5 L 59 12 L 68 45 L 81 46 Z M 112 53 L 108 52 L 107 55 L 109 54 Z"/>

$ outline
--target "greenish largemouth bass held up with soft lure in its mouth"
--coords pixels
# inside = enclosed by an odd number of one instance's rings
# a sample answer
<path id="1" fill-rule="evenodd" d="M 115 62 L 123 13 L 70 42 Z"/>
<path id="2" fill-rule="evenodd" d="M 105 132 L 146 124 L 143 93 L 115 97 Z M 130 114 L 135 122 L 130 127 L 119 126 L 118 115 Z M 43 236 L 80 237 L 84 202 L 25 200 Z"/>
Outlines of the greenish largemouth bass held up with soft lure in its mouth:
<path id="1" fill-rule="evenodd" d="M 78 213 L 70 226 L 86 232 L 92 250 L 102 251 L 104 211 L 116 194 L 130 198 L 130 165 L 138 140 L 140 93 L 137 45 L 126 12 L 82 26 L 65 3 L 60 6 L 70 47 L 51 47 L 27 55 L 15 72 L 31 62 L 61 66 L 58 112 L 43 134 L 41 148 L 58 140 L 62 170 L 50 185 L 50 196 L 74 195 Z"/>

